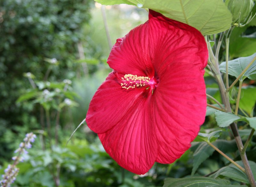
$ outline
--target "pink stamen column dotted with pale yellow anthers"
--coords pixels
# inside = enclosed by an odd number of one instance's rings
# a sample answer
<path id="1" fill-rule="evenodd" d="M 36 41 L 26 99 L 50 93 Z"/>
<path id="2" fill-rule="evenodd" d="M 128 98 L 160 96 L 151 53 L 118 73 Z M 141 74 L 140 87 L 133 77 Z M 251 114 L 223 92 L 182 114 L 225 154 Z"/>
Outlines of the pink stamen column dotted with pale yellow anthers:
<path id="1" fill-rule="evenodd" d="M 128 90 L 129 88 L 141 87 L 141 86 L 149 86 L 154 89 L 156 81 L 150 80 L 149 77 L 146 76 L 137 76 L 132 74 L 125 74 L 121 79 L 117 75 L 117 71 L 113 72 L 116 78 L 121 81 L 122 88 Z"/>

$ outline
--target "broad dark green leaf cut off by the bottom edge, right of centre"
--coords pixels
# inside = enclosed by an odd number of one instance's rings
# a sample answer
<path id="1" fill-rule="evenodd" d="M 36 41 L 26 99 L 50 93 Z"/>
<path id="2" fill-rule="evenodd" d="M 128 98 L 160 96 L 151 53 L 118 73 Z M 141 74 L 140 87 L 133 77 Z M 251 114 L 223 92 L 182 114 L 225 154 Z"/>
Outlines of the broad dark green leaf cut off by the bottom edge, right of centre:
<path id="1" fill-rule="evenodd" d="M 225 179 L 213 179 L 211 177 L 188 177 L 188 178 L 166 178 L 163 187 L 206 187 L 206 186 L 228 186 L 230 181 Z"/>

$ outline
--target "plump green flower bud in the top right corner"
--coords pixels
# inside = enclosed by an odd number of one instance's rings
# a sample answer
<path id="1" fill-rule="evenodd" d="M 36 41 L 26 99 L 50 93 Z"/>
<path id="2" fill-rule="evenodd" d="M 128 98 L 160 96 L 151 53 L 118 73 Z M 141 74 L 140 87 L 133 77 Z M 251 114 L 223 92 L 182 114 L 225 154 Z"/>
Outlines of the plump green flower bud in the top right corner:
<path id="1" fill-rule="evenodd" d="M 252 11 L 253 0 L 230 0 L 228 10 L 233 17 L 232 25 L 235 23 L 244 23 Z"/>

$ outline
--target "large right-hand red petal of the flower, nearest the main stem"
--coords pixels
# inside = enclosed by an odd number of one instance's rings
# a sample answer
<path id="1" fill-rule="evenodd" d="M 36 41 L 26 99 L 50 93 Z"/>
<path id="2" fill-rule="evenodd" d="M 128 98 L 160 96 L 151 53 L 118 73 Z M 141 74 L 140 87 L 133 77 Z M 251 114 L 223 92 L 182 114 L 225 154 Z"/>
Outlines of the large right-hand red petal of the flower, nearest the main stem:
<path id="1" fill-rule="evenodd" d="M 204 123 L 206 96 L 199 66 L 174 62 L 165 71 L 150 107 L 158 142 L 156 162 L 172 163 L 190 147 Z"/>

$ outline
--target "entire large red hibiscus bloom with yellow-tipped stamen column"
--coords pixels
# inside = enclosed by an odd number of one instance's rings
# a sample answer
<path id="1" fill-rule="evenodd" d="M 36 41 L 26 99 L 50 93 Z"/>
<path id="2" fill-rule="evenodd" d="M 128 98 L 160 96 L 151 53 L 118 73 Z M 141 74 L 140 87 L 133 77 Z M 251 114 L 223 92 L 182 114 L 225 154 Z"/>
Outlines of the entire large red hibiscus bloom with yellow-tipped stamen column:
<path id="1" fill-rule="evenodd" d="M 208 51 L 195 28 L 149 11 L 149 20 L 119 38 L 113 69 L 92 98 L 86 122 L 123 168 L 146 173 L 172 163 L 204 123 Z"/>

